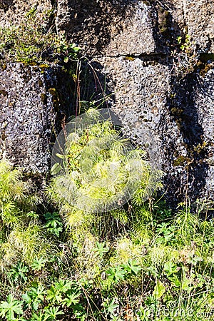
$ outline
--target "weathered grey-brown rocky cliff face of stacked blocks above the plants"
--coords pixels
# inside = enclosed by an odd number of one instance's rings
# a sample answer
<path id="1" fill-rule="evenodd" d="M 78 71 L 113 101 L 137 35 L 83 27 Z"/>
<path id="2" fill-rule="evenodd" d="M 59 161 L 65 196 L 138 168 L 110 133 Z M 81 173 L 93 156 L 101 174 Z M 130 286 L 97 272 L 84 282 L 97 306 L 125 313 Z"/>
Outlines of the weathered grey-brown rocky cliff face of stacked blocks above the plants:
<path id="1" fill-rule="evenodd" d="M 1 1 L 1 26 L 19 24 L 34 6 L 38 19 L 53 9 L 56 33 L 86 57 L 78 66 L 81 101 L 104 97 L 103 108 L 115 108 L 133 143 L 165 171 L 170 200 L 181 201 L 185 193 L 213 199 L 213 0 L 24 4 Z M 0 73 L 1 156 L 44 173 L 51 128 L 59 129 L 76 108 L 75 83 L 57 66 L 41 73 L 38 66 L 7 63 Z"/>

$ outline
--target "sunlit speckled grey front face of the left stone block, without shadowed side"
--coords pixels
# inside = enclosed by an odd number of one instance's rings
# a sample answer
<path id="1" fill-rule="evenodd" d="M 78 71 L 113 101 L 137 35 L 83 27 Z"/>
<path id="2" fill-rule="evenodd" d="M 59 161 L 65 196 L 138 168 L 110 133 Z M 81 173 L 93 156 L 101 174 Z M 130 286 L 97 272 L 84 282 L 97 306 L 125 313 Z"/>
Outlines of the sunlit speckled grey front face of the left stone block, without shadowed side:
<path id="1" fill-rule="evenodd" d="M 54 111 L 44 75 L 11 63 L 0 72 L 1 157 L 33 170 L 49 169 L 49 140 Z M 44 96 L 42 96 L 44 95 Z"/>

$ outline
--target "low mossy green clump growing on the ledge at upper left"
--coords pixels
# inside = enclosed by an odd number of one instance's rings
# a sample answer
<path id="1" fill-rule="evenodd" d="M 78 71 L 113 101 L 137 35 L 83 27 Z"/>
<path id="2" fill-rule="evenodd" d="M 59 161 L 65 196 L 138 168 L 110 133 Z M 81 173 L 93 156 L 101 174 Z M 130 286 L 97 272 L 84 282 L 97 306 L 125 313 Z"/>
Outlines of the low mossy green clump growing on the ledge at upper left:
<path id="1" fill-rule="evenodd" d="M 64 34 L 56 34 L 49 24 L 51 11 L 37 17 L 32 9 L 19 24 L 0 28 L 0 52 L 4 61 L 40 64 L 42 68 L 53 63 L 76 60 L 80 49 L 69 44 Z"/>

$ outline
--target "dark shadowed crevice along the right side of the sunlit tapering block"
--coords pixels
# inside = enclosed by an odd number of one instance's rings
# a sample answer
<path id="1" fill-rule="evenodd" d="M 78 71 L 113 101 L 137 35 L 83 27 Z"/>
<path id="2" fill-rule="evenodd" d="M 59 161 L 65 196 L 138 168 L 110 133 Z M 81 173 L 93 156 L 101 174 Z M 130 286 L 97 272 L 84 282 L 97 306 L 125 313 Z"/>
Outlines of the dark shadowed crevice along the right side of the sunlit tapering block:
<path id="1" fill-rule="evenodd" d="M 198 79 L 195 72 L 187 74 L 181 80 L 172 77 L 170 85 L 172 93 L 168 96 L 170 114 L 178 126 L 187 151 L 185 157 L 179 155 L 175 150 L 173 151 L 173 157 L 180 162 L 178 164 L 183 167 L 183 177 L 186 177 L 186 183 L 182 184 L 183 188 L 181 190 L 178 188 L 175 191 L 178 202 L 183 201 L 183 195 L 185 195 L 187 189 L 190 200 L 195 201 L 200 197 L 205 187 L 208 170 L 208 163 L 205 161 L 206 148 L 203 127 L 199 123 L 198 110 L 195 105 L 194 91 L 197 85 Z M 170 181 L 170 175 L 167 179 Z M 177 182 L 173 178 L 173 185 L 179 186 L 180 178 Z"/>

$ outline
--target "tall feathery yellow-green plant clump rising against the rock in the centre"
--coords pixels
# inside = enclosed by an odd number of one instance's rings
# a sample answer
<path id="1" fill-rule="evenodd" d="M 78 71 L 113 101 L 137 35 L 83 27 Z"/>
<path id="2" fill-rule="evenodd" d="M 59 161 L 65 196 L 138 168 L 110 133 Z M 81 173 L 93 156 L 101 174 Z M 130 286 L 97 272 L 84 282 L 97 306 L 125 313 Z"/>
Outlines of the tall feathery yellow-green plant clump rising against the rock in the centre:
<path id="1" fill-rule="evenodd" d="M 99 116 L 90 108 L 81 116 L 81 126 L 73 123 L 75 131 L 68 132 L 72 123 L 64 128 L 66 146 L 63 154 L 56 153 L 61 165 L 52 168 L 52 173 L 60 172 L 53 180 L 58 199 L 88 213 L 108 212 L 130 198 L 141 203 L 151 190 L 162 187 L 162 172 L 151 168 L 145 152 L 133 149 L 110 121 L 99 122 Z"/>

